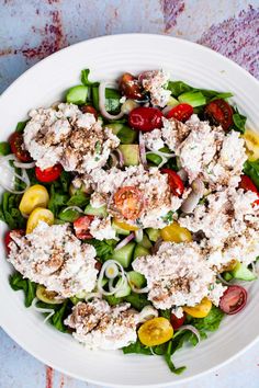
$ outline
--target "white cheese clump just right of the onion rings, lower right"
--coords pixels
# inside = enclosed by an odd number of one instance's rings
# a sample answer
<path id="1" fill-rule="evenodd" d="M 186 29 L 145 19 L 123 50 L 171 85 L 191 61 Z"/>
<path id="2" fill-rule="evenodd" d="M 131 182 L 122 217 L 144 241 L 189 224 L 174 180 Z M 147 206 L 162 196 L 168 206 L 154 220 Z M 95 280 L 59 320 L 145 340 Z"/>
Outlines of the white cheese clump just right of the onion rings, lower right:
<path id="1" fill-rule="evenodd" d="M 194 306 L 205 296 L 210 298 L 216 282 L 196 242 L 164 242 L 156 254 L 137 258 L 132 266 L 146 277 L 148 299 L 160 309 Z"/>

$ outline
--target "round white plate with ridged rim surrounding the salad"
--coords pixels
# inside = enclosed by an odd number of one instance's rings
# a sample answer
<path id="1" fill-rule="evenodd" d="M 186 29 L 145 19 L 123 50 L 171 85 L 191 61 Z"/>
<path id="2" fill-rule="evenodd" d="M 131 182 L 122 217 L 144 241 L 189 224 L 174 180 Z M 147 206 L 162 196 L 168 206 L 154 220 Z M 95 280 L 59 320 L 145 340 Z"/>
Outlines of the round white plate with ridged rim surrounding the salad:
<path id="1" fill-rule="evenodd" d="M 91 79 L 116 78 L 124 71 L 164 68 L 171 78 L 206 89 L 230 91 L 248 126 L 259 130 L 259 82 L 236 64 L 193 43 L 161 35 L 115 35 L 82 42 L 56 53 L 21 76 L 0 98 L 1 140 L 16 122 L 36 106 L 47 106 L 64 91 L 79 83 L 80 70 L 91 69 Z M 1 224 L 1 232 L 4 227 Z M 160 357 L 125 356 L 121 352 L 91 352 L 70 335 L 44 324 L 40 315 L 25 309 L 22 293 L 14 293 L 8 277 L 1 239 L 0 324 L 27 352 L 74 377 L 106 386 L 156 386 L 182 384 L 226 363 L 256 341 L 259 334 L 259 283 L 249 286 L 246 309 L 224 319 L 221 329 L 196 349 L 174 356 L 187 365 L 172 375 Z M 244 323 L 245 322 L 245 323 Z"/>

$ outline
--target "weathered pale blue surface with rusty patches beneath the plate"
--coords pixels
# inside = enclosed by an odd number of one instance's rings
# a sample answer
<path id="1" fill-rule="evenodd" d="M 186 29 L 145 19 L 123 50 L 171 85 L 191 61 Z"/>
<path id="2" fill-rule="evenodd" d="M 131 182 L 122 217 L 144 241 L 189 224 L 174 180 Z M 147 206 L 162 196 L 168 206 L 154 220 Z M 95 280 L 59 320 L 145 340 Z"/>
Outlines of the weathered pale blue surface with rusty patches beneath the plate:
<path id="1" fill-rule="evenodd" d="M 198 42 L 259 79 L 259 0 L 0 0 L 0 92 L 63 47 L 130 32 Z M 44 366 L 1 329 L 0 365 L 0 388 L 93 388 Z M 259 344 L 217 372 L 182 385 L 200 387 L 258 388 Z"/>

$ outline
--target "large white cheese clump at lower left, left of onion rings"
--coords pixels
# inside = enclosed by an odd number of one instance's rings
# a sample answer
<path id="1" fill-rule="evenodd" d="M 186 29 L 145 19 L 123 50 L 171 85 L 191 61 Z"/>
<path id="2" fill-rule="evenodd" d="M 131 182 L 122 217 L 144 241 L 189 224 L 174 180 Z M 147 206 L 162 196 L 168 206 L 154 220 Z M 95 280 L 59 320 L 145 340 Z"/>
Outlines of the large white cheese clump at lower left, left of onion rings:
<path id="1" fill-rule="evenodd" d="M 24 277 L 63 297 L 94 288 L 95 249 L 78 240 L 68 224 L 40 221 L 31 233 L 11 236 L 8 260 Z"/>

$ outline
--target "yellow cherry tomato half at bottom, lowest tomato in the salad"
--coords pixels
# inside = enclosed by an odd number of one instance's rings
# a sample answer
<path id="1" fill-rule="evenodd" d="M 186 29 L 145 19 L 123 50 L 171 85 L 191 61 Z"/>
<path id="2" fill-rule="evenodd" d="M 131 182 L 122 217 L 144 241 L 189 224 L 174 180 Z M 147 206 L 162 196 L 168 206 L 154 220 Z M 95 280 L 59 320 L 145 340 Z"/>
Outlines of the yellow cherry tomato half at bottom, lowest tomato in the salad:
<path id="1" fill-rule="evenodd" d="M 158 317 L 143 323 L 137 333 L 144 345 L 156 346 L 169 341 L 173 335 L 173 329 L 168 319 Z"/>

